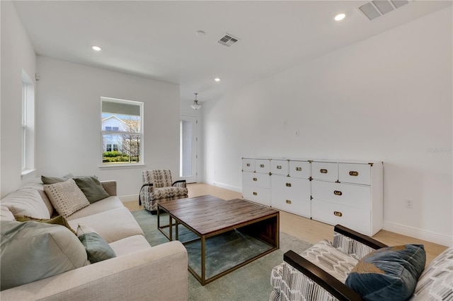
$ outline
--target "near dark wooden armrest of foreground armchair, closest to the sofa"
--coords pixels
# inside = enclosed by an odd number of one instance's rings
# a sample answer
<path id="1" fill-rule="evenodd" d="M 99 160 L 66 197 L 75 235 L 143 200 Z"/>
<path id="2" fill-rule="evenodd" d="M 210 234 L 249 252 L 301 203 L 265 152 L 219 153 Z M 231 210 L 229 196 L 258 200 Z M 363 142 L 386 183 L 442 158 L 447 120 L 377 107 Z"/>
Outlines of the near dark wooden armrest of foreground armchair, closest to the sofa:
<path id="1" fill-rule="evenodd" d="M 306 290 L 306 292 L 314 293 L 317 291 L 319 293 L 319 290 L 326 290 L 326 292 L 330 293 L 337 300 L 362 300 L 362 297 L 355 293 L 355 291 L 348 288 L 348 286 L 338 281 L 326 271 L 323 271 L 323 269 L 304 259 L 304 257 L 299 254 L 290 250 L 283 255 L 283 260 L 306 276 L 306 278 L 309 278 L 312 282 L 316 283 L 317 287 L 315 289 Z M 292 277 L 294 278 L 294 276 Z M 283 276 L 282 281 L 285 281 L 285 276 Z M 300 281 L 292 281 L 291 283 L 300 283 Z M 297 288 L 289 287 L 289 290 L 294 289 L 297 290 Z M 323 294 L 321 293 L 320 295 Z M 306 297 L 306 300 L 312 300 L 313 296 L 304 297 Z M 320 300 L 322 299 L 323 297 L 321 297 Z"/>

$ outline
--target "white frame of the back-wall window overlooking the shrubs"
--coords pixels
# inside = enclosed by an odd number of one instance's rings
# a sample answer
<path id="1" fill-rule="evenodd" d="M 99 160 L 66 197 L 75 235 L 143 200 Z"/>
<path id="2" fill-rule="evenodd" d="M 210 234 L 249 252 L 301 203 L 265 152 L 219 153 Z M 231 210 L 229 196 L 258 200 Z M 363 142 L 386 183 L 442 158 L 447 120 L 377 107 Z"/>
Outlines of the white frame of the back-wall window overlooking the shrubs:
<path id="1" fill-rule="evenodd" d="M 140 108 L 140 126 L 139 126 L 139 132 L 130 132 L 130 131 L 114 131 L 113 127 L 111 131 L 105 131 L 102 128 L 102 121 L 103 121 L 103 110 L 102 110 L 102 102 L 103 101 L 108 101 L 108 102 L 118 102 L 122 104 L 127 104 L 127 105 L 138 105 Z M 143 167 L 144 165 L 144 103 L 143 102 L 137 102 L 134 100 L 122 100 L 118 98 L 107 98 L 107 97 L 101 97 L 101 165 L 99 167 L 106 167 L 106 168 L 129 168 L 129 167 Z M 103 163 L 103 135 L 104 134 L 127 134 L 127 135 L 137 135 L 140 136 L 140 147 L 139 147 L 139 153 L 140 153 L 140 160 L 138 163 Z M 108 143 L 112 145 L 112 150 L 113 146 L 117 146 L 116 143 Z M 118 146 L 117 146 L 118 147 Z"/>

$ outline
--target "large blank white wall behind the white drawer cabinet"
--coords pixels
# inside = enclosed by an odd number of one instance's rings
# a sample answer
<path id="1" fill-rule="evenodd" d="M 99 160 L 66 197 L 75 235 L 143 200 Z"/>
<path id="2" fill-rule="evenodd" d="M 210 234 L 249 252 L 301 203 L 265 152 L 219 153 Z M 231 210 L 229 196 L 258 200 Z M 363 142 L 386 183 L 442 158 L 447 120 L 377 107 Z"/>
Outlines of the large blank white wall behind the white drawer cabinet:
<path id="1" fill-rule="evenodd" d="M 206 182 L 240 191 L 241 157 L 382 160 L 384 229 L 453 244 L 452 51 L 450 7 L 206 102 Z"/>

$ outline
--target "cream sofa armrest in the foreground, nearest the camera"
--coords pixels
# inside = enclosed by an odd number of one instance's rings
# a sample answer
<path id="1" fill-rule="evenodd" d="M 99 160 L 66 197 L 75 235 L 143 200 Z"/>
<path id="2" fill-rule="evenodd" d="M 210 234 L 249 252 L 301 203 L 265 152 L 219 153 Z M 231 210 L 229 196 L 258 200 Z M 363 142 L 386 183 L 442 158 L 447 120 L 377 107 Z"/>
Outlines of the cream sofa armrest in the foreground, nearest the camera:
<path id="1" fill-rule="evenodd" d="M 3 290 L 1 300 L 187 300 L 188 256 L 178 241 Z"/>

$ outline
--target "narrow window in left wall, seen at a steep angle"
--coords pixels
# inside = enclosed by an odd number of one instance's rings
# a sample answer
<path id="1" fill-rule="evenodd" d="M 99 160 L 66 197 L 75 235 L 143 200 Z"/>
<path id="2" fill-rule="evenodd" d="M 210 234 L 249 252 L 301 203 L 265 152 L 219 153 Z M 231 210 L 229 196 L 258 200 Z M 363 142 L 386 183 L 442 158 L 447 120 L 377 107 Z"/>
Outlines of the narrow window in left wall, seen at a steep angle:
<path id="1" fill-rule="evenodd" d="M 35 85 L 22 70 L 21 172 L 27 175 L 35 168 Z"/>

